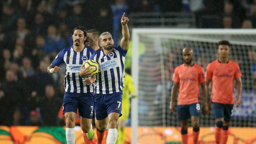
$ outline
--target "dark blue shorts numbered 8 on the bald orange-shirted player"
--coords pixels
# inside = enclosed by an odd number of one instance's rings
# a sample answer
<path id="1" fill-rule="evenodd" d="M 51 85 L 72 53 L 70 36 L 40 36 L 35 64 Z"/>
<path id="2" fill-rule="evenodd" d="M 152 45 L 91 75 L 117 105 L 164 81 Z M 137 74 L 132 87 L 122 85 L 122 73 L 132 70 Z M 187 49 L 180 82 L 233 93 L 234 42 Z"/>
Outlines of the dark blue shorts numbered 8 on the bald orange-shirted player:
<path id="1" fill-rule="evenodd" d="M 187 120 L 191 116 L 201 116 L 201 106 L 199 103 L 177 106 L 177 119 Z"/>

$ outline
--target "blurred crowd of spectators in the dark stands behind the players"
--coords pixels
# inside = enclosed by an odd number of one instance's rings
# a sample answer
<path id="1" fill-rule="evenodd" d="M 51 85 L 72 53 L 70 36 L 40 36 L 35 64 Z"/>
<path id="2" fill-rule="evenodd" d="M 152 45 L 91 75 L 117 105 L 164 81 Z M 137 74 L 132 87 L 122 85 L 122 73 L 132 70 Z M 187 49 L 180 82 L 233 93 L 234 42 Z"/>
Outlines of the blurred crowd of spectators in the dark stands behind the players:
<path id="1" fill-rule="evenodd" d="M 65 66 L 56 75 L 47 66 L 73 44 L 73 28 L 112 33 L 123 12 L 193 13 L 197 28 L 256 27 L 256 0 L 1 0 L 0 125 L 64 125 Z"/>

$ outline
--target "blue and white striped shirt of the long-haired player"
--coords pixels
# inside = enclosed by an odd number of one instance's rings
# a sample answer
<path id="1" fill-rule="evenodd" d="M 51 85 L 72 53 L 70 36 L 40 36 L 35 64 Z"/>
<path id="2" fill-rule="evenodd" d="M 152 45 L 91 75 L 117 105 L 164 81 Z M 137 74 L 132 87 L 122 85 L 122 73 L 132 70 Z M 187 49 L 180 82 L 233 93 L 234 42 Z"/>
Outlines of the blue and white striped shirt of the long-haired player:
<path id="1" fill-rule="evenodd" d="M 66 92 L 72 93 L 89 93 L 93 92 L 93 85 L 87 85 L 82 77 L 79 76 L 80 67 L 83 62 L 88 60 L 95 51 L 85 46 L 81 52 L 76 52 L 73 46 L 63 49 L 52 61 L 54 66 L 61 63 L 66 64 L 66 75 L 64 77 L 64 86 Z"/>

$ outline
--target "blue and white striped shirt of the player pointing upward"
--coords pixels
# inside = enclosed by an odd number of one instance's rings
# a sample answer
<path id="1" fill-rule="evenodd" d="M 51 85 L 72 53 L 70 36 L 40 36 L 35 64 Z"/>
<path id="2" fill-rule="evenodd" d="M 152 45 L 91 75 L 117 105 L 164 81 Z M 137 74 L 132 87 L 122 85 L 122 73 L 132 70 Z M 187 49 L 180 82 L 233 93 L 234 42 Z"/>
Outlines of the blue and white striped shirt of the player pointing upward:
<path id="1" fill-rule="evenodd" d="M 118 46 L 108 55 L 105 55 L 103 50 L 92 54 L 90 59 L 99 63 L 95 93 L 112 94 L 122 91 L 124 87 L 124 62 L 126 53 L 127 51 Z"/>

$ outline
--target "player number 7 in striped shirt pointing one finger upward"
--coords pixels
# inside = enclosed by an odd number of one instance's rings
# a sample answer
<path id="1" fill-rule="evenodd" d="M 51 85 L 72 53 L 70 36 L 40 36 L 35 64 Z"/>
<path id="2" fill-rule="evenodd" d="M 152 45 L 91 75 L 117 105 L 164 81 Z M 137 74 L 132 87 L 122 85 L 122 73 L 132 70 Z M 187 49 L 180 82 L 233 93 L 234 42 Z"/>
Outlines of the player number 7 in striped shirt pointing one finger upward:
<path id="1" fill-rule="evenodd" d="M 124 61 L 129 48 L 128 17 L 121 18 L 122 34 L 120 46 L 113 47 L 114 40 L 109 32 L 100 35 L 102 50 L 92 54 L 90 59 L 99 63 L 94 95 L 96 127 L 104 131 L 108 125 L 107 144 L 115 144 L 117 121 L 122 115 L 122 89 L 124 87 Z"/>

